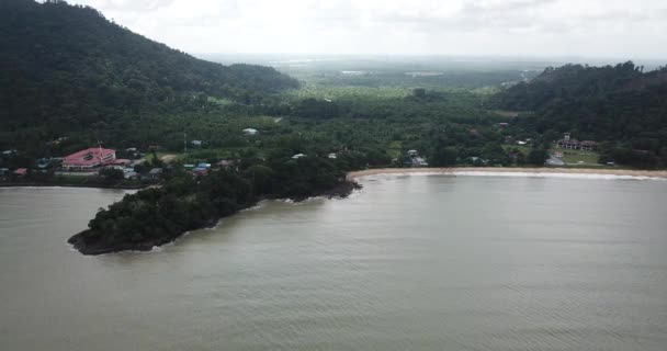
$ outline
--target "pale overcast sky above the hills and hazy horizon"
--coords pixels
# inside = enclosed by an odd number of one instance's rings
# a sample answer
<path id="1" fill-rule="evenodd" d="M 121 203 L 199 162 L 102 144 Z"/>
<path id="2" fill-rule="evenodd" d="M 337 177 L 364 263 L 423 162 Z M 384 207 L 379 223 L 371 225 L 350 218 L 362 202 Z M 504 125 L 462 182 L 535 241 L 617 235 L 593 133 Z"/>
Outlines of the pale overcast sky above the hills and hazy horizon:
<path id="1" fill-rule="evenodd" d="M 192 54 L 667 58 L 667 0 L 69 0 Z"/>

